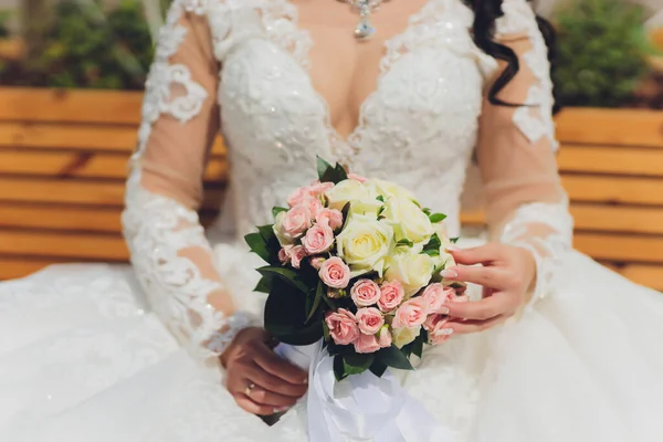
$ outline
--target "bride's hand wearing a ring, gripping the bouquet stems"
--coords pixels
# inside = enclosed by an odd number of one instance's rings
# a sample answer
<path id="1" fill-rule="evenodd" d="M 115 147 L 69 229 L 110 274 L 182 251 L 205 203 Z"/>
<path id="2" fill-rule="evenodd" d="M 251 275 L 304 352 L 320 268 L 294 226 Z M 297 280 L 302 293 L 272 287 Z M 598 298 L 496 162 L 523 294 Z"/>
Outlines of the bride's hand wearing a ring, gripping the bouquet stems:
<path id="1" fill-rule="evenodd" d="M 278 357 L 262 328 L 240 332 L 221 355 L 225 386 L 238 404 L 253 414 L 285 411 L 306 393 L 308 373 Z"/>

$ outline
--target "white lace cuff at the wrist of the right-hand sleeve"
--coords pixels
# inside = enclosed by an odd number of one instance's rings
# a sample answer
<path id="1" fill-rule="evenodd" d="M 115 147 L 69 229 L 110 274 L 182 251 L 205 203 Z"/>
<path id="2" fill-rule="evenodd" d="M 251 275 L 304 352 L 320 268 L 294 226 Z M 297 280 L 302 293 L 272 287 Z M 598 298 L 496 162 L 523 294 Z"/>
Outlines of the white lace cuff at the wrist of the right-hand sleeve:
<path id="1" fill-rule="evenodd" d="M 533 228 L 545 228 L 549 233 L 533 235 Z M 535 202 L 520 206 L 505 225 L 501 242 L 528 250 L 536 261 L 536 286 L 530 306 L 546 297 L 555 287 L 562 266 L 561 257 L 572 249 L 573 219 L 568 200 L 560 203 Z"/>

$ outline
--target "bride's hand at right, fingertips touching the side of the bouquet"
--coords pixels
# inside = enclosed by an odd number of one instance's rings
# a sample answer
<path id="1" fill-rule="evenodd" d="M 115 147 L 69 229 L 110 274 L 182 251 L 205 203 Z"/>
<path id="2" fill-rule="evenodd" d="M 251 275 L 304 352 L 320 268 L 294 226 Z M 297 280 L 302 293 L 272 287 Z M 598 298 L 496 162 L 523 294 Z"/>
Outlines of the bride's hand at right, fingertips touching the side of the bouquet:
<path id="1" fill-rule="evenodd" d="M 464 319 L 449 323 L 453 333 L 467 334 L 494 327 L 527 303 L 536 277 L 536 262 L 527 250 L 488 243 L 474 249 L 450 249 L 449 252 L 461 265 L 445 270 L 443 276 L 484 287 L 482 301 L 448 304 L 449 316 Z"/>

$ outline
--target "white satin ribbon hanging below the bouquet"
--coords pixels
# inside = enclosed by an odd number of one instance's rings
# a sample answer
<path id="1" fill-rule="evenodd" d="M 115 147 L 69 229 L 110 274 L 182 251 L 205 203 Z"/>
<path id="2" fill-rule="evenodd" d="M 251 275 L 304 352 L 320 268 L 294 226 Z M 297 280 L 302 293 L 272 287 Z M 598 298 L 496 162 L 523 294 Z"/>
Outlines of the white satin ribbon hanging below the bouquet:
<path id="1" fill-rule="evenodd" d="M 450 431 L 410 397 L 387 370 L 370 371 L 341 382 L 334 377 L 334 358 L 322 341 L 276 351 L 308 368 L 306 412 L 309 442 L 451 442 Z"/>

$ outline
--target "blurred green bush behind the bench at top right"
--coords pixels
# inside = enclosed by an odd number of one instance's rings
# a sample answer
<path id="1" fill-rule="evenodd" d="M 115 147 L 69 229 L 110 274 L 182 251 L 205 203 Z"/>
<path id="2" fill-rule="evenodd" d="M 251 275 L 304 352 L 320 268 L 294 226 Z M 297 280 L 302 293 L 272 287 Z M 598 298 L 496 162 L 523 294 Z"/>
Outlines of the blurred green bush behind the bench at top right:
<path id="1" fill-rule="evenodd" d="M 648 73 L 644 11 L 623 0 L 575 0 L 555 19 L 555 83 L 562 105 L 627 104 Z"/>

